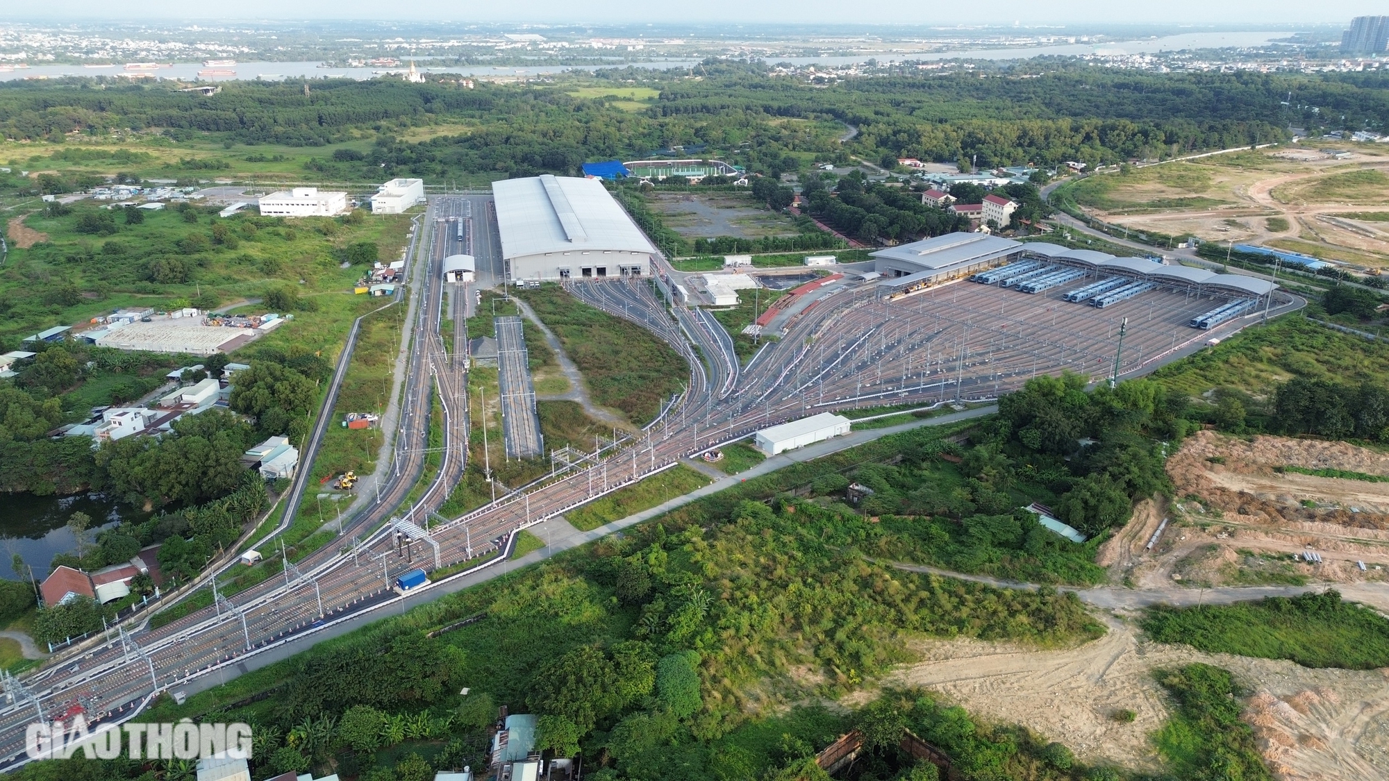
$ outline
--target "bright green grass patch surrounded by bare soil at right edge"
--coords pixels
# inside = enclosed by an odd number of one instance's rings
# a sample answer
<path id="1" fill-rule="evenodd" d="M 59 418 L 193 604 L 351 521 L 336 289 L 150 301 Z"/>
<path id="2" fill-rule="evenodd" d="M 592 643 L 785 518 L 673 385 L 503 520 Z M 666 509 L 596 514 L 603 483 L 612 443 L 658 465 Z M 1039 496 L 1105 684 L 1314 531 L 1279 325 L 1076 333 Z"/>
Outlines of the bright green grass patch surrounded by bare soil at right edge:
<path id="1" fill-rule="evenodd" d="M 1156 606 L 1143 630 L 1157 642 L 1211 653 L 1290 659 L 1303 667 L 1389 667 L 1389 620 L 1333 589 L 1260 602 Z"/>

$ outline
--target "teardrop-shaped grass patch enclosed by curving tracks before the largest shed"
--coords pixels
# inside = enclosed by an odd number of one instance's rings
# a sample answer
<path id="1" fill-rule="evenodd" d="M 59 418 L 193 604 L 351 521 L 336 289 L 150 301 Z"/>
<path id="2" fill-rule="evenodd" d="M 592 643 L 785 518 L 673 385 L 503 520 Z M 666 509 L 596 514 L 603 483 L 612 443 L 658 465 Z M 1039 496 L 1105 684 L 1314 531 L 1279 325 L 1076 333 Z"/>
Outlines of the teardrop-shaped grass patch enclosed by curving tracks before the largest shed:
<path id="1" fill-rule="evenodd" d="M 644 328 L 583 304 L 558 285 L 517 295 L 560 339 L 596 403 L 640 424 L 685 386 L 685 361 Z"/>

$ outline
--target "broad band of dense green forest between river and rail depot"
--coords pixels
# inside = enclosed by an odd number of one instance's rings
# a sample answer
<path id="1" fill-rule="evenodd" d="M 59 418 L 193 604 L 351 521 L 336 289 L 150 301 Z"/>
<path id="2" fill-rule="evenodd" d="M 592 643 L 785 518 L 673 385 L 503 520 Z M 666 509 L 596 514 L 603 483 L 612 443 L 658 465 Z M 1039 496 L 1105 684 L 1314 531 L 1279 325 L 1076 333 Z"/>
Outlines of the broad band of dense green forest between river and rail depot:
<path id="1" fill-rule="evenodd" d="M 599 76 L 626 78 L 624 72 Z M 444 178 L 576 172 L 586 160 L 629 160 L 672 145 L 704 145 L 775 176 L 803 170 L 806 157 L 849 163 L 838 122 L 860 128 L 849 147 L 871 160 L 890 154 L 978 165 L 1157 158 L 1282 140 L 1289 124 L 1389 126 L 1382 74 L 1157 75 L 1043 61 L 982 76 L 896 75 L 828 88 L 738 63 L 707 63 L 699 79 L 651 71 L 631 76 L 661 89 L 654 106 L 629 113 L 568 94 L 564 86 L 328 79 L 306 96 L 301 83 L 232 82 L 204 97 L 164 85 L 21 81 L 0 86 L 0 132 L 58 139 L 71 131 L 163 128 L 175 140 L 207 132 L 247 143 L 321 146 L 346 139 L 349 128 L 372 126 L 383 135 L 368 153 L 336 150 L 310 168 Z M 1292 104 L 1283 106 L 1288 93 Z M 390 138 L 394 128 L 440 120 L 465 120 L 467 132 L 418 143 Z"/>

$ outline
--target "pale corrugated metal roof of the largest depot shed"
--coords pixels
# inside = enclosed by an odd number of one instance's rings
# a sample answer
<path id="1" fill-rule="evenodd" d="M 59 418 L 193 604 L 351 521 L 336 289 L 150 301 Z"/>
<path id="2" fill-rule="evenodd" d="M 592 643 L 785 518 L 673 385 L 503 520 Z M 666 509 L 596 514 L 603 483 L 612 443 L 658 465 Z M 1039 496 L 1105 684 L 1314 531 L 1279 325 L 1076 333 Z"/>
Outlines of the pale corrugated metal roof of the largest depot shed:
<path id="1" fill-rule="evenodd" d="M 492 182 L 501 256 L 636 252 L 656 247 L 597 179 L 528 176 Z"/>

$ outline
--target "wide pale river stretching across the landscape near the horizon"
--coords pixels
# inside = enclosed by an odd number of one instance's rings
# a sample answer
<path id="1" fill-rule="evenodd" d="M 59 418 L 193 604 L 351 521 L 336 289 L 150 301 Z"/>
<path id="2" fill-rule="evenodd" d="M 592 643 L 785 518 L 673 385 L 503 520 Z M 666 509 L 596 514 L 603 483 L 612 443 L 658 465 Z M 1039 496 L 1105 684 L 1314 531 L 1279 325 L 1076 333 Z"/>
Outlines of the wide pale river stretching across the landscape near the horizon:
<path id="1" fill-rule="evenodd" d="M 932 53 L 892 53 L 892 54 L 856 54 L 849 57 L 770 57 L 771 63 L 790 63 L 793 65 L 851 65 L 867 60 L 881 63 L 897 60 L 950 60 L 967 57 L 974 60 L 1021 60 L 1042 56 L 1078 56 L 1078 54 L 1143 54 L 1157 51 L 1179 51 L 1182 49 L 1224 49 L 1263 46 L 1274 39 L 1286 39 L 1289 31 L 1279 32 L 1189 32 L 1183 35 L 1170 35 L 1163 38 L 1149 38 L 1142 40 L 1104 42 L 1104 43 L 1065 43 L 1057 46 L 1031 46 L 1007 49 L 960 49 L 951 51 Z M 690 68 L 699 60 L 649 60 L 638 63 L 614 61 L 604 65 L 425 65 L 425 60 L 417 61 L 417 68 L 425 72 L 461 74 L 465 76 L 540 76 L 547 74 L 561 74 L 565 71 L 593 71 L 597 68 L 613 68 L 632 65 L 636 68 Z M 238 63 L 224 65 L 217 69 L 235 71 L 235 75 L 199 76 L 199 71 L 207 69 L 201 63 L 175 63 L 153 71 L 138 71 L 165 79 L 182 81 L 228 81 L 228 79 L 303 79 L 303 78 L 351 78 L 371 79 L 385 74 L 400 74 L 407 68 L 339 68 L 324 67 L 322 63 Z M 86 65 L 36 65 L 31 68 L 15 68 L 0 71 L 0 81 L 38 79 L 58 76 L 114 76 L 131 74 L 124 69 L 124 64 L 108 67 Z"/>

